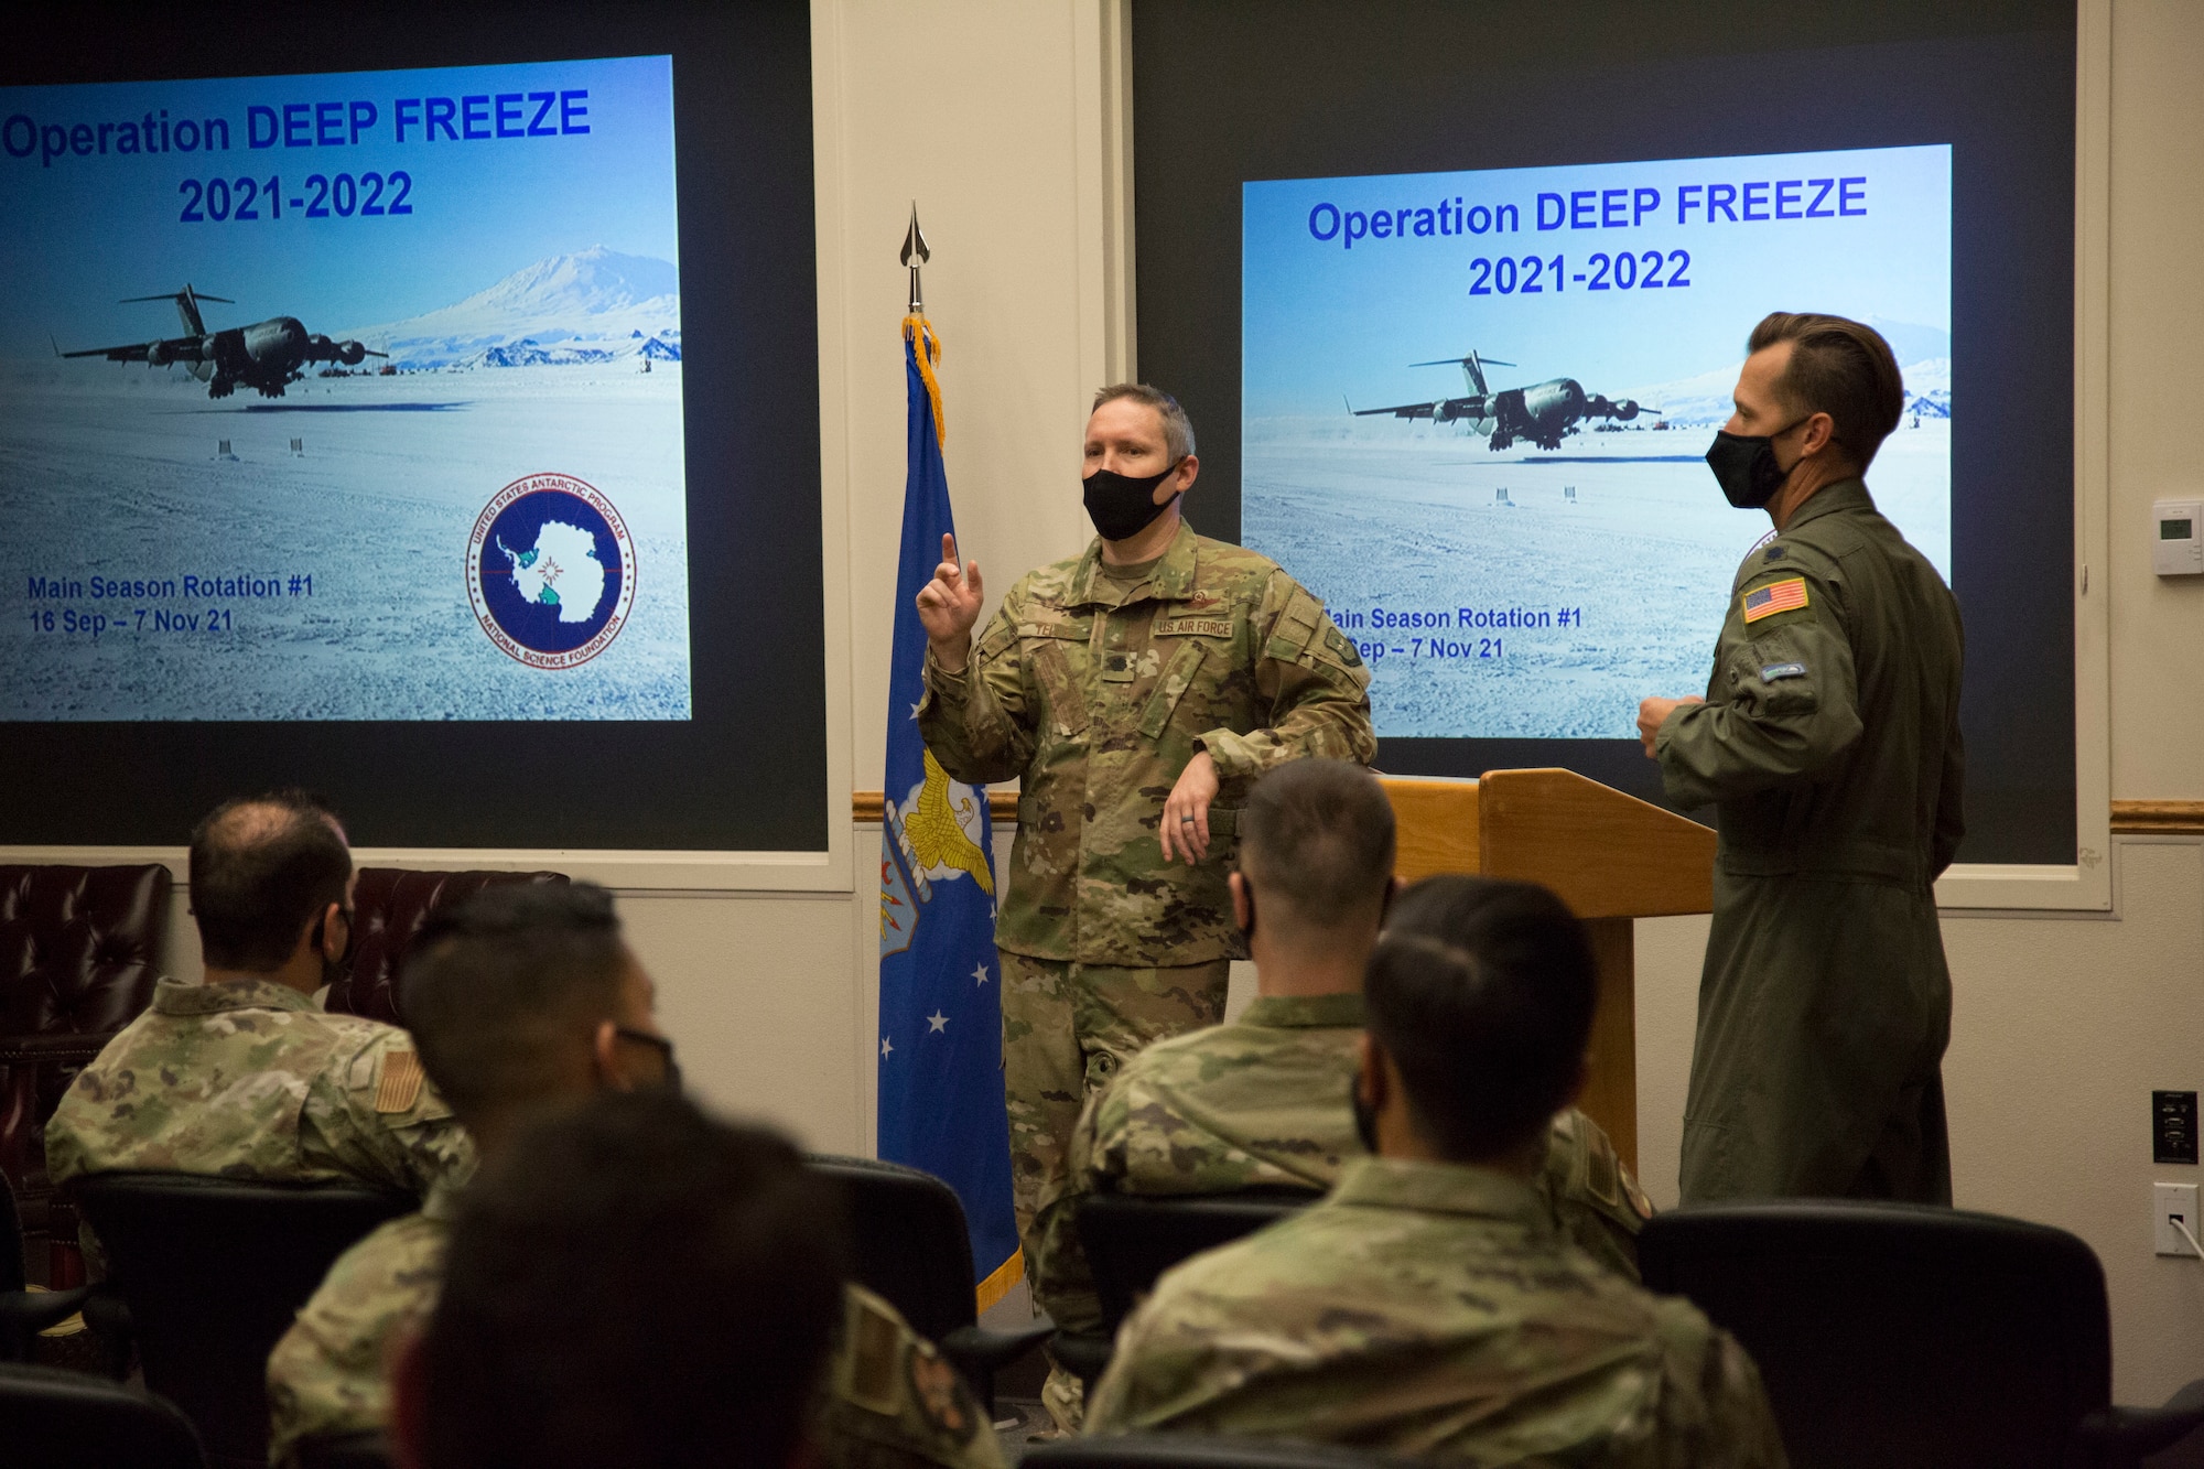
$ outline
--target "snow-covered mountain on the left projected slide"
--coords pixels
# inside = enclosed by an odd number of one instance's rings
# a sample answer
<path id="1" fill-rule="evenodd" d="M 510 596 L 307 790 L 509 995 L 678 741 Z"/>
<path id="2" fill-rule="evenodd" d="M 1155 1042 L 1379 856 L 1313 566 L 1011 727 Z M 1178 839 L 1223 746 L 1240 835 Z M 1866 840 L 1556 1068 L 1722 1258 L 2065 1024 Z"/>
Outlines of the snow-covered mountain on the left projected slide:
<path id="1" fill-rule="evenodd" d="M 670 260 L 595 245 L 514 271 L 423 315 L 344 333 L 401 368 L 681 360 L 681 274 Z"/>

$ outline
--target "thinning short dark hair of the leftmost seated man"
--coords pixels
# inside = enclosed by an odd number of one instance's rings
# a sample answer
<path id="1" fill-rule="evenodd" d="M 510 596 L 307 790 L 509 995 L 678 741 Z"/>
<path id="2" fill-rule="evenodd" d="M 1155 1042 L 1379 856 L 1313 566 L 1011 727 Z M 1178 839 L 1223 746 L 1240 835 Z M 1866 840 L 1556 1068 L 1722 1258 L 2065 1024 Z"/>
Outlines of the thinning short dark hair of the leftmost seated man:
<path id="1" fill-rule="evenodd" d="M 192 827 L 192 918 L 207 964 L 282 968 L 306 920 L 344 902 L 350 878 L 344 825 L 309 792 L 220 803 Z"/>

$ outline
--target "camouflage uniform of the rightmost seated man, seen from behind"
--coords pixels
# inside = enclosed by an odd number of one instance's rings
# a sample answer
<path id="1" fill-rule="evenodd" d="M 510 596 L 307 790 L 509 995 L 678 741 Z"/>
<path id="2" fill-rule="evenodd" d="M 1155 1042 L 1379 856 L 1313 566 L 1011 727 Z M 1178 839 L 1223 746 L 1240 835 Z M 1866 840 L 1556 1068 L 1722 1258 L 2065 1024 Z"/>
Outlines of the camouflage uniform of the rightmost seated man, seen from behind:
<path id="1" fill-rule="evenodd" d="M 1785 1462 L 1728 1332 L 1593 1264 L 1523 1180 L 1404 1158 L 1168 1270 L 1087 1416 L 1477 1465 Z"/>

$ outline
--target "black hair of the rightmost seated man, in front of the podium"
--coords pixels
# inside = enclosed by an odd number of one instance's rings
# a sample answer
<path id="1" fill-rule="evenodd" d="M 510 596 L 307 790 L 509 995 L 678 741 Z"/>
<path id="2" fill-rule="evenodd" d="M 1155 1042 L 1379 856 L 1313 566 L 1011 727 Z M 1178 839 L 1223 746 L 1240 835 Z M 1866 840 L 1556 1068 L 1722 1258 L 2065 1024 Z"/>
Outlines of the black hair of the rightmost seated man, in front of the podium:
<path id="1" fill-rule="evenodd" d="M 1585 924 L 1536 882 L 1426 878 L 1371 955 L 1369 1032 L 1448 1158 L 1499 1158 L 1569 1103 L 1598 968 Z"/>

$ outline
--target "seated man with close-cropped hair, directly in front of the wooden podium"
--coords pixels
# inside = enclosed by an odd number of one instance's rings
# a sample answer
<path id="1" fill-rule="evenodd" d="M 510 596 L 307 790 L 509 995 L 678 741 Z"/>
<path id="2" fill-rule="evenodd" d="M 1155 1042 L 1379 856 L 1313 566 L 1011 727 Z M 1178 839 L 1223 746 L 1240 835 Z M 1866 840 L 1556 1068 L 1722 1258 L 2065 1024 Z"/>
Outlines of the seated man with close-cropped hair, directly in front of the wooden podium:
<path id="1" fill-rule="evenodd" d="M 1265 774 L 1239 818 L 1232 911 L 1258 997 L 1230 1026 L 1157 1041 L 1080 1118 L 1069 1187 L 1040 1211 L 1036 1273 L 1065 1330 L 1098 1330 L 1078 1242 L 1089 1193 L 1329 1189 L 1362 1154 L 1349 1094 L 1362 1046 L 1362 971 L 1393 878 L 1393 805 L 1347 761 Z M 1653 1211 L 1600 1125 L 1567 1107 L 1532 1178 L 1563 1233 L 1638 1279 L 1638 1226 Z"/>

